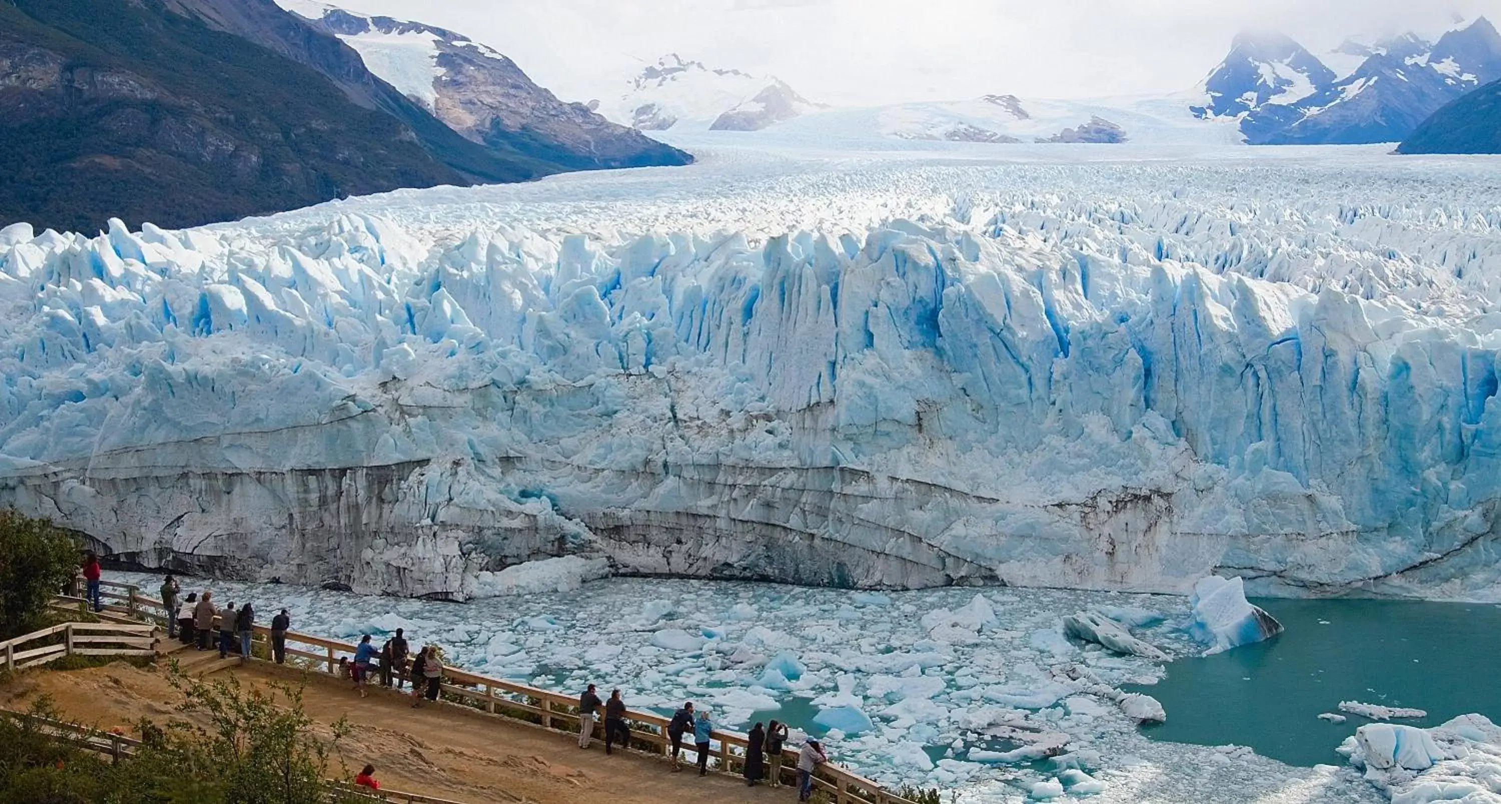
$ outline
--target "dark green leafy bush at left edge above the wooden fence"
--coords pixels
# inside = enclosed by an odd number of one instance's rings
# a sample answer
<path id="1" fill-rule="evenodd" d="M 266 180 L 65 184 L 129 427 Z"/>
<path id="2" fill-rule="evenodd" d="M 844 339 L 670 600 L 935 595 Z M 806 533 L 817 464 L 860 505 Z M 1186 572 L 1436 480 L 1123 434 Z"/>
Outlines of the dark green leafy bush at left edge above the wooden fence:
<path id="1" fill-rule="evenodd" d="M 47 603 L 77 573 L 78 544 L 68 530 L 0 509 L 0 639 L 38 628 Z"/>

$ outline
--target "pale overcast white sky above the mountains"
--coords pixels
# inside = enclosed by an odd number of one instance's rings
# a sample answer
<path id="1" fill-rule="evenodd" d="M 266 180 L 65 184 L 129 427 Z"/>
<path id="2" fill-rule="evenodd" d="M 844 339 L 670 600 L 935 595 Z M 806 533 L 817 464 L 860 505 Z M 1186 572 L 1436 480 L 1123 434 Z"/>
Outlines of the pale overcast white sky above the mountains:
<path id="1" fill-rule="evenodd" d="M 620 95 L 666 53 L 773 74 L 812 101 L 1099 98 L 1190 89 L 1244 29 L 1316 54 L 1435 35 L 1501 0 L 333 0 L 485 42 L 569 101 Z"/>

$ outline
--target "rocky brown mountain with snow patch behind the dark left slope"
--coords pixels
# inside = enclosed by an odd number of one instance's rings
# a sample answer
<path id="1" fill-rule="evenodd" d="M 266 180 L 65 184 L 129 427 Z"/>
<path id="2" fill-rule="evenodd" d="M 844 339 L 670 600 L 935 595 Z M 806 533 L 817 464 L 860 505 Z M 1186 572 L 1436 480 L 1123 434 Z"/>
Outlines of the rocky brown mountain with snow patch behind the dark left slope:
<path id="1" fill-rule="evenodd" d="M 359 51 L 365 65 L 476 143 L 573 168 L 681 165 L 692 156 L 537 86 L 504 54 L 461 33 L 279 0 Z"/>

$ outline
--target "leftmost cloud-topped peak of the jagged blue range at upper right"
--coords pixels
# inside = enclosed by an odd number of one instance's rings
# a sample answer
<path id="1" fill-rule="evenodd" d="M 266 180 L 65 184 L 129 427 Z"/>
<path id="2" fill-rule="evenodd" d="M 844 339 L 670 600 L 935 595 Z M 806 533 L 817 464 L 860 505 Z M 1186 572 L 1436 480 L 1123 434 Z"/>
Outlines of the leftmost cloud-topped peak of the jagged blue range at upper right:
<path id="1" fill-rule="evenodd" d="M 1267 104 L 1295 104 L 1328 89 L 1334 71 L 1280 33 L 1241 33 L 1229 56 L 1204 80 L 1201 117 L 1237 116 Z"/>

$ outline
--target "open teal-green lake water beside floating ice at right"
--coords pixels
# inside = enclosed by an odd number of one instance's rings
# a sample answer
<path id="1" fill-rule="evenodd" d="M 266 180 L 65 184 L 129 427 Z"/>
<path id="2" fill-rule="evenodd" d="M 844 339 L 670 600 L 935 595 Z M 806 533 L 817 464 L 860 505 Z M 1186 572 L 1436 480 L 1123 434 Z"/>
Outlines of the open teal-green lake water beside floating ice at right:
<path id="1" fill-rule="evenodd" d="M 1369 723 L 1318 720 L 1340 700 L 1426 709 L 1414 726 L 1480 712 L 1501 721 L 1501 606 L 1385 600 L 1258 600 L 1280 636 L 1168 664 L 1136 687 L 1168 721 L 1151 739 L 1249 745 L 1289 765 L 1342 763 L 1334 748 Z"/>

